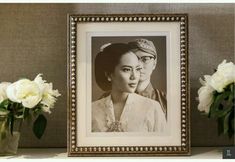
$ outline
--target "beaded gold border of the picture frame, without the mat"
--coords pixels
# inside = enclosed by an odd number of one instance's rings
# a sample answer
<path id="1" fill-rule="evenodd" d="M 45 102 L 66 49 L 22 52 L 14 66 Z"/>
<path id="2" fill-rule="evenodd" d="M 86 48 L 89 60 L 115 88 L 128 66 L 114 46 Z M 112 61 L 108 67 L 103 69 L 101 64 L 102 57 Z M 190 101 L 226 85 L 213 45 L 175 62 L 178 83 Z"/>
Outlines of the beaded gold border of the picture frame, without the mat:
<path id="1" fill-rule="evenodd" d="M 77 147 L 76 139 L 76 35 L 77 25 L 84 22 L 178 22 L 180 23 L 181 78 L 181 145 L 180 146 L 96 146 Z M 187 14 L 89 14 L 68 15 L 67 107 L 68 156 L 160 156 L 190 155 L 190 86 L 188 74 L 188 15 Z"/>

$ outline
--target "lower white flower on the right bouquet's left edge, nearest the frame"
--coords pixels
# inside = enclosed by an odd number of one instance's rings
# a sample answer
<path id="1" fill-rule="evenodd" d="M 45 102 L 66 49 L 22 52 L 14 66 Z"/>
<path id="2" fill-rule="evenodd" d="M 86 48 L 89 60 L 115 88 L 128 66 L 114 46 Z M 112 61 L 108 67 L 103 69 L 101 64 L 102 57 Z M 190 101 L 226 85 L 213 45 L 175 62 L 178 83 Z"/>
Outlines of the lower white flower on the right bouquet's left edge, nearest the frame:
<path id="1" fill-rule="evenodd" d="M 210 111 L 210 106 L 213 103 L 213 92 L 215 90 L 209 85 L 211 76 L 205 75 L 204 78 L 205 81 L 200 79 L 200 82 L 203 86 L 198 90 L 198 110 L 204 111 L 208 114 Z"/>

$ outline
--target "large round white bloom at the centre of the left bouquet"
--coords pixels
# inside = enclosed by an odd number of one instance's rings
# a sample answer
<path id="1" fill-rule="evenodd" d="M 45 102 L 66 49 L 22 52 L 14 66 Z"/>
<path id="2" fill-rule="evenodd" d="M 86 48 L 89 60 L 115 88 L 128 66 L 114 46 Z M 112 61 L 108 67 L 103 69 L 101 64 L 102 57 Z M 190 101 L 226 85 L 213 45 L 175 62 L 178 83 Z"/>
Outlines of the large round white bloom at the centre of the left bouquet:
<path id="1" fill-rule="evenodd" d="M 13 102 L 22 103 L 24 107 L 33 108 L 42 99 L 42 93 L 37 83 L 21 79 L 8 86 L 7 97 Z"/>

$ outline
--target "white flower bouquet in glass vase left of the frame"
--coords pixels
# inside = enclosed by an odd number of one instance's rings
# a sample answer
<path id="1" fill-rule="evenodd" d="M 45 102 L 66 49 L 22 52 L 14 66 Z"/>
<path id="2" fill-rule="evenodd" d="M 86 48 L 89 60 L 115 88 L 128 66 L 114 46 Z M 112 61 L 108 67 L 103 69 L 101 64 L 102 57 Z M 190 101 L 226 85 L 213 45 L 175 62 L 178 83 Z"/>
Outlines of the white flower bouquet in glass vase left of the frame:
<path id="1" fill-rule="evenodd" d="M 51 113 L 58 90 L 38 74 L 31 81 L 20 79 L 14 83 L 0 84 L 0 155 L 16 154 L 19 132 L 24 120 L 32 121 L 33 132 L 40 139 L 45 131 L 47 120 L 44 112 Z"/>

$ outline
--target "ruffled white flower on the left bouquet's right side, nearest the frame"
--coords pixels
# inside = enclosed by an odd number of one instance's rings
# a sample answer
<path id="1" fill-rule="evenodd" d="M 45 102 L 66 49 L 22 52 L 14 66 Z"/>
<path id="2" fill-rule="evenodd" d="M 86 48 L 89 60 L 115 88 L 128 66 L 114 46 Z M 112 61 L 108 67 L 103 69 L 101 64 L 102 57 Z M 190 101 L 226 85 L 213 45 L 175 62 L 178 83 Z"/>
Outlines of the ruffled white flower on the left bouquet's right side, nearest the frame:
<path id="1" fill-rule="evenodd" d="M 37 75 L 34 81 L 42 90 L 42 110 L 44 112 L 51 113 L 50 109 L 54 107 L 56 97 L 59 97 L 61 94 L 58 90 L 53 90 L 52 83 L 47 83 L 45 80 L 42 79 L 41 75 L 42 74 Z"/>

